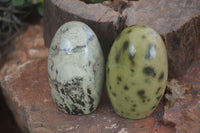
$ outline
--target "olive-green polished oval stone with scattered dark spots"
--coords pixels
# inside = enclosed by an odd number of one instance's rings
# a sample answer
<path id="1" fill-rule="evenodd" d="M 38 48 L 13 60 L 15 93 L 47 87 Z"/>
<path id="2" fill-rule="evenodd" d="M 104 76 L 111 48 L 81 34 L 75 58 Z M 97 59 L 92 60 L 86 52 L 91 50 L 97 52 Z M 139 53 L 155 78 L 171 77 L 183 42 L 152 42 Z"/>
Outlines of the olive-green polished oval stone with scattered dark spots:
<path id="1" fill-rule="evenodd" d="M 168 76 L 166 48 L 158 33 L 143 25 L 123 30 L 106 69 L 109 98 L 118 115 L 141 119 L 155 110 Z"/>

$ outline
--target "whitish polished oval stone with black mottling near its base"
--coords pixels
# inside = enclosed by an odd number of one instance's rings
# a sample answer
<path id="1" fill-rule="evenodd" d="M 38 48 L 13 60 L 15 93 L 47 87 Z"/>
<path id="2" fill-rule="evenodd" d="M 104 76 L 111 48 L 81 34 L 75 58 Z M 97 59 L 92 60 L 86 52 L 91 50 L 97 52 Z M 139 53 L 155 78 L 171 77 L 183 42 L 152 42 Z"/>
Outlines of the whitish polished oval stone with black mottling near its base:
<path id="1" fill-rule="evenodd" d="M 56 32 L 48 56 L 53 99 L 67 114 L 93 112 L 104 85 L 104 56 L 95 33 L 84 23 L 71 21 Z"/>

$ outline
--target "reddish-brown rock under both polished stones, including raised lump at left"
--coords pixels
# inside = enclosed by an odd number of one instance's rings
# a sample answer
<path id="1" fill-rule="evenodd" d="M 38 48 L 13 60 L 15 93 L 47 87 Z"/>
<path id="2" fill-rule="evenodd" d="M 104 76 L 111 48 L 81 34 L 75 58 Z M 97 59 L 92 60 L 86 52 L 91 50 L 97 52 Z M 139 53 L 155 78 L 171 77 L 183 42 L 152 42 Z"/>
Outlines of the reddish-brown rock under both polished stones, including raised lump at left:
<path id="1" fill-rule="evenodd" d="M 41 27 L 29 27 L 12 43 L 13 51 L 0 71 L 0 83 L 6 102 L 24 132 L 175 132 L 174 128 L 160 122 L 162 102 L 148 118 L 128 120 L 114 113 L 106 92 L 92 114 L 72 116 L 62 113 L 50 93 L 48 49 L 44 47 Z M 30 55 L 31 49 L 39 54 Z"/>

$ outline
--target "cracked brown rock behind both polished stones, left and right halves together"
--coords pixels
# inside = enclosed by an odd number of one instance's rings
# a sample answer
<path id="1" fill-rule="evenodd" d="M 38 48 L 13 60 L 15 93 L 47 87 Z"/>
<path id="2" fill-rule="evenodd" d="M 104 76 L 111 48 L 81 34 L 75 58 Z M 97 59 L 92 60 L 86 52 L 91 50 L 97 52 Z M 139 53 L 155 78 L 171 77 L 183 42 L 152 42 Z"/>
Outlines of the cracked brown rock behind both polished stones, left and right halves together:
<path id="1" fill-rule="evenodd" d="M 122 29 L 135 24 L 148 25 L 163 37 L 169 77 L 177 77 L 185 73 L 196 56 L 200 43 L 199 7 L 199 0 L 139 0 L 129 2 L 124 10 L 117 12 L 103 4 L 85 4 L 80 0 L 44 1 L 45 45 L 50 46 L 61 24 L 78 20 L 95 31 L 107 57 Z"/>

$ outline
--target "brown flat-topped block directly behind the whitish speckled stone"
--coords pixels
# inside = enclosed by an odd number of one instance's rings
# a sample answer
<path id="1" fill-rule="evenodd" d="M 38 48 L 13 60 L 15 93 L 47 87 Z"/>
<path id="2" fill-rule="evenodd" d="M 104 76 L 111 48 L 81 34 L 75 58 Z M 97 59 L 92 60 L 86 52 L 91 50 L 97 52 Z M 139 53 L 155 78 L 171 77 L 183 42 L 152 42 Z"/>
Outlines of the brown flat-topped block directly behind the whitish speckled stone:
<path id="1" fill-rule="evenodd" d="M 77 20 L 88 24 L 97 34 L 105 55 L 108 55 L 113 38 L 117 37 L 123 22 L 120 13 L 102 4 L 86 4 L 80 0 L 44 1 L 44 39 L 46 46 L 57 29 L 65 22 Z M 67 11 L 66 11 L 67 10 Z M 98 28 L 97 28 L 98 27 Z"/>

